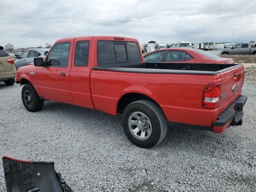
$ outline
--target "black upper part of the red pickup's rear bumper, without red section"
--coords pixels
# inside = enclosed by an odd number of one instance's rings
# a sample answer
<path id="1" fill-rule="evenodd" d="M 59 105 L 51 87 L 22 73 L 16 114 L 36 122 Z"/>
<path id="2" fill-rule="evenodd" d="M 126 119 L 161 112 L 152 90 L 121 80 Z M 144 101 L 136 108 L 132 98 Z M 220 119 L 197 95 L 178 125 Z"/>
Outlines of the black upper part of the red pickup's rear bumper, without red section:
<path id="1" fill-rule="evenodd" d="M 240 96 L 237 98 L 226 110 L 224 110 L 221 114 L 218 115 L 216 121 L 212 123 L 213 126 L 224 126 L 226 125 L 232 118 L 234 118 L 232 125 L 238 124 L 238 122 L 242 119 L 244 112 L 243 108 L 247 101 L 247 96 Z M 232 109 L 234 107 L 234 109 Z"/>

